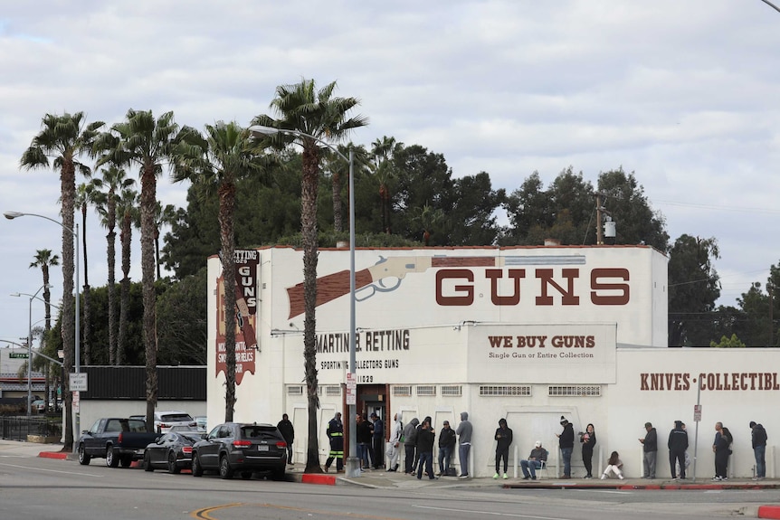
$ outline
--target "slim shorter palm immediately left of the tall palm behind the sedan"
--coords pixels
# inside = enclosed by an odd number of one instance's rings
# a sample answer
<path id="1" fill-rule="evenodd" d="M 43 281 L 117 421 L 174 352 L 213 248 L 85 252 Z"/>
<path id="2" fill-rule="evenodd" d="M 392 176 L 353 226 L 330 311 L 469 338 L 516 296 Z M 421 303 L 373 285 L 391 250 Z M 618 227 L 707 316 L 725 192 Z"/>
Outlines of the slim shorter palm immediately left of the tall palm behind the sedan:
<path id="1" fill-rule="evenodd" d="M 122 279 L 119 281 L 119 328 L 117 330 L 117 352 L 115 364 L 125 361 L 125 346 L 128 343 L 128 316 L 130 309 L 130 244 L 133 238 L 133 222 L 136 221 L 138 192 L 123 188 L 117 200 L 117 214 L 121 218 L 119 244 L 121 246 Z"/>

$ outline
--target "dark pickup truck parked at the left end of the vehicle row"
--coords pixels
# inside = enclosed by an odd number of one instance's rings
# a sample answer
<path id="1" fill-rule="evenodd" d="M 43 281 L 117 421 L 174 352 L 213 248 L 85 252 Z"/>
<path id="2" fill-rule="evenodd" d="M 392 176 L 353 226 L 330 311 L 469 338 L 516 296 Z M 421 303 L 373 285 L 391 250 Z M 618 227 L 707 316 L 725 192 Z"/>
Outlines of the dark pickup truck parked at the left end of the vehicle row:
<path id="1" fill-rule="evenodd" d="M 90 430 L 81 432 L 78 441 L 79 464 L 86 466 L 90 459 L 106 459 L 106 466 L 128 468 L 133 460 L 144 458 L 147 444 L 157 440 L 157 433 L 147 432 L 147 423 L 141 419 L 109 417 L 95 421 Z"/>

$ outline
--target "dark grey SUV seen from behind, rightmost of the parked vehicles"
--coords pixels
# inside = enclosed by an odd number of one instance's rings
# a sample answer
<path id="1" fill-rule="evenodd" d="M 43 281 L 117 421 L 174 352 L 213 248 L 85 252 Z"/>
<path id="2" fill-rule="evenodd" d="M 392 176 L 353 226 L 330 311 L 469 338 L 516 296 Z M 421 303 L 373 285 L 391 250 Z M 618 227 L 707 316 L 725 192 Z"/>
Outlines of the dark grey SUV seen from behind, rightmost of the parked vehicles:
<path id="1" fill-rule="evenodd" d="M 201 477 L 216 470 L 222 478 L 252 478 L 253 472 L 271 471 L 271 478 L 284 478 L 287 442 L 272 424 L 225 422 L 214 427 L 193 446 L 192 471 Z"/>

